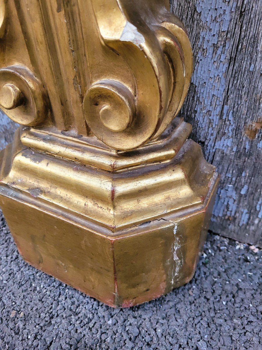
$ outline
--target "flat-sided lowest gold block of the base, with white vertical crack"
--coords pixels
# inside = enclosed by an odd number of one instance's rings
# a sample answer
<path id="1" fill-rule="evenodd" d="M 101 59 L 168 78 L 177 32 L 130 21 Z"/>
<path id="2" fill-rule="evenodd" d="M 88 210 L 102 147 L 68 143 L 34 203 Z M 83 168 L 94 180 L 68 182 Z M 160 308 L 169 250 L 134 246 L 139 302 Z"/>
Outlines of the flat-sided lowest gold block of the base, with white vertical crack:
<path id="1" fill-rule="evenodd" d="M 214 179 L 216 180 L 216 179 Z M 157 298 L 194 275 L 206 236 L 217 181 L 203 208 L 101 234 L 99 226 L 38 208 L 2 188 L 1 207 L 29 264 L 113 307 Z"/>

